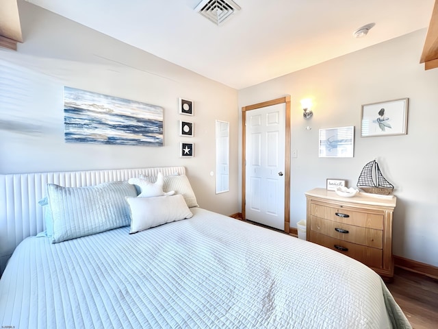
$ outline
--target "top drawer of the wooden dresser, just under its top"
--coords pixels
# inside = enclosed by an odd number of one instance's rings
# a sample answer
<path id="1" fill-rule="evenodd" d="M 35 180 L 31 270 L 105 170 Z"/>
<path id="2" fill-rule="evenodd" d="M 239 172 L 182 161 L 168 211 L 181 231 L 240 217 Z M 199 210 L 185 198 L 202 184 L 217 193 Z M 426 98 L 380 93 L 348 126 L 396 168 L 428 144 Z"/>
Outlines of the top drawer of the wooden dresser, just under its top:
<path id="1" fill-rule="evenodd" d="M 378 210 L 360 211 L 343 206 L 336 207 L 335 205 L 312 202 L 310 215 L 363 228 L 383 230 L 384 213 Z"/>

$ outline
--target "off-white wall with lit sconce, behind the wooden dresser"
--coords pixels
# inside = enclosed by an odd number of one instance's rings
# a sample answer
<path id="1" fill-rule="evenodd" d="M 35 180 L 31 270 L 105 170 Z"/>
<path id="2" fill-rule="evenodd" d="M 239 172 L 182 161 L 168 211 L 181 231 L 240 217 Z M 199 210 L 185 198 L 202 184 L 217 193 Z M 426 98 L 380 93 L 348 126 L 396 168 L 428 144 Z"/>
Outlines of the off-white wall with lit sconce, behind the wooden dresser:
<path id="1" fill-rule="evenodd" d="M 291 159 L 291 226 L 305 219 L 305 191 L 325 187 L 326 178 L 356 186 L 363 166 L 377 158 L 398 197 L 394 254 L 438 266 L 438 69 L 424 71 L 419 64 L 425 37 L 420 30 L 239 91 L 240 108 L 292 96 L 298 158 Z M 404 97 L 407 135 L 361 138 L 362 104 Z M 310 121 L 302 119 L 303 98 L 313 99 Z M 355 126 L 354 158 L 319 158 L 318 130 L 347 125 Z"/>

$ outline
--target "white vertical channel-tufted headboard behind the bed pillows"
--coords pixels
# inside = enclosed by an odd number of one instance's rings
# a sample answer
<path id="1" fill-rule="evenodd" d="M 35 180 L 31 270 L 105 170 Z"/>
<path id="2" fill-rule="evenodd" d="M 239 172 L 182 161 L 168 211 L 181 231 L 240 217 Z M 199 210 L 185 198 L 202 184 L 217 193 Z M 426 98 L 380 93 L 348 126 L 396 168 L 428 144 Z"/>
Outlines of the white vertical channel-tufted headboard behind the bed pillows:
<path id="1" fill-rule="evenodd" d="M 185 167 L 107 169 L 0 175 L 0 276 L 18 243 L 45 230 L 42 207 L 46 184 L 80 187 L 129 180 L 138 175 L 185 175 Z"/>

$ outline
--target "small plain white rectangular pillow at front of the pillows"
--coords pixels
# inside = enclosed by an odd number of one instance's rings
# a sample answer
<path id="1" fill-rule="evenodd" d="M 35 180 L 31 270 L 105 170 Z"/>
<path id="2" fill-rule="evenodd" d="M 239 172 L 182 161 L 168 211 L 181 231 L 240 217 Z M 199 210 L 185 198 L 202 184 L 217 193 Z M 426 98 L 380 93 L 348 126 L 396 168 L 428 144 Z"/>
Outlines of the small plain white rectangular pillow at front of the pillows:
<path id="1" fill-rule="evenodd" d="M 180 194 L 162 197 L 127 197 L 126 200 L 131 210 L 129 232 L 131 234 L 193 216 Z"/>

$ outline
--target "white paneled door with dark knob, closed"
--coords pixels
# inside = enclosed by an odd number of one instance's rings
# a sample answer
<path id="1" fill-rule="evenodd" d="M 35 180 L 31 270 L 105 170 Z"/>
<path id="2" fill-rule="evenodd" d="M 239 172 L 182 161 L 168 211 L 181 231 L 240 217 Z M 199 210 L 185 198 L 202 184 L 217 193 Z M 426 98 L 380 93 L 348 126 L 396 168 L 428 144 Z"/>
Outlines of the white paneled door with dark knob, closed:
<path id="1" fill-rule="evenodd" d="M 245 216 L 285 226 L 285 103 L 246 112 Z"/>

